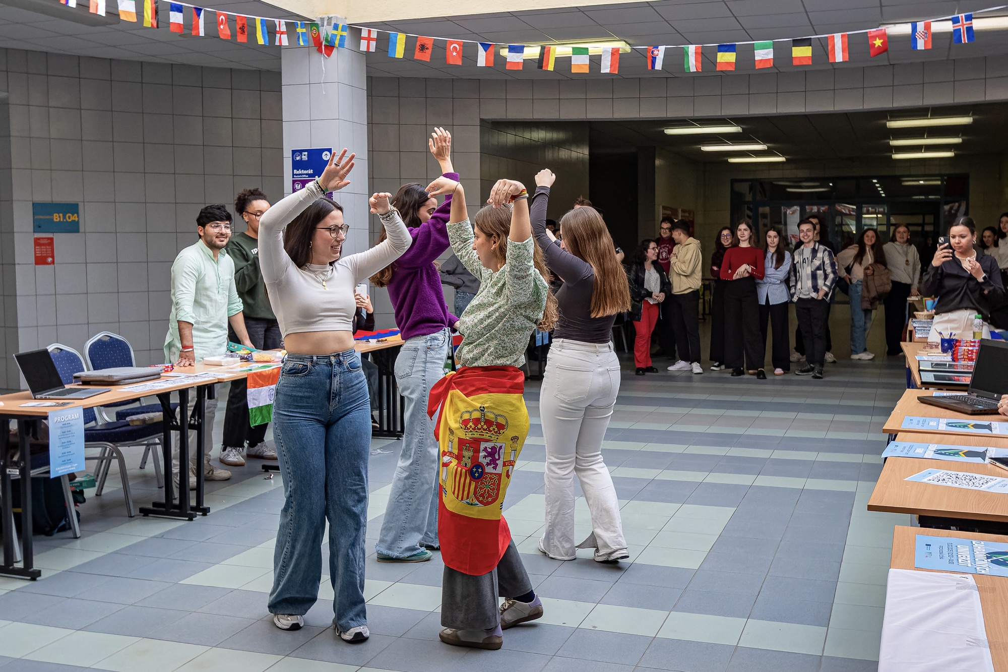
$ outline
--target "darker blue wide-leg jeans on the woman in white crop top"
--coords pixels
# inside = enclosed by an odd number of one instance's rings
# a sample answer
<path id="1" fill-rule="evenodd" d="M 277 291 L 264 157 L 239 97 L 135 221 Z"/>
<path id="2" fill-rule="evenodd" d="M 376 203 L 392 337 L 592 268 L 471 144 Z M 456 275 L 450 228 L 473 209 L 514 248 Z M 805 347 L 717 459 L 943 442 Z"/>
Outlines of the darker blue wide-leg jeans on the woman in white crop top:
<path id="1" fill-rule="evenodd" d="M 361 357 L 288 354 L 273 402 L 283 510 L 273 554 L 272 613 L 304 614 L 319 597 L 329 521 L 336 629 L 367 624 L 364 533 L 371 411 Z"/>

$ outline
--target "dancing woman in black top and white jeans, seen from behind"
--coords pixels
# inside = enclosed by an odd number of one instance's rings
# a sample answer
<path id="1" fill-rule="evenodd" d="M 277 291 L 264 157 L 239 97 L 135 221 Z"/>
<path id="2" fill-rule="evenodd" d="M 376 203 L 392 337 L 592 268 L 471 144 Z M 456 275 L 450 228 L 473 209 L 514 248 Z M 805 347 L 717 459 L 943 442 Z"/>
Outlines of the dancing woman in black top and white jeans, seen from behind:
<path id="1" fill-rule="evenodd" d="M 555 560 L 574 560 L 576 548 L 594 548 L 599 562 L 630 557 L 620 506 L 602 440 L 620 389 L 620 362 L 613 351 L 616 315 L 630 310 L 626 271 L 613 252 L 606 223 L 592 207 L 560 220 L 563 246 L 546 233 L 546 202 L 556 177 L 535 176 L 529 205 L 532 232 L 551 272 L 563 286 L 556 293 L 559 321 L 553 331 L 539 396 L 546 440 L 546 527 L 539 550 Z M 592 535 L 575 546 L 574 475 L 592 514 Z"/>

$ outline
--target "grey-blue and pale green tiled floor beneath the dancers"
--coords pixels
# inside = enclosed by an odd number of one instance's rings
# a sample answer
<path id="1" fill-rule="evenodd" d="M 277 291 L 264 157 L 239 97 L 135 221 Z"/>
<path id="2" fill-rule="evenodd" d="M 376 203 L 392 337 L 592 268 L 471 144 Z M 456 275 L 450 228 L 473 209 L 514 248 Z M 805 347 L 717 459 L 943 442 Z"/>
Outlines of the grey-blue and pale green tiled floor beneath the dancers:
<path id="1" fill-rule="evenodd" d="M 605 444 L 632 554 L 619 566 L 536 552 L 545 450 L 530 383 L 531 437 L 505 515 L 545 615 L 506 632 L 501 651 L 437 641 L 437 554 L 378 564 L 372 549 L 366 644 L 333 632 L 328 577 L 305 629 L 275 629 L 282 484 L 253 462 L 210 484 L 213 513 L 193 523 L 130 520 L 118 488 L 89 491 L 84 537 L 36 538 L 42 579 L 0 578 L 0 669 L 875 670 L 891 531 L 910 519 L 865 503 L 903 367 L 842 361 L 827 375 L 624 375 Z M 372 446 L 369 546 L 398 446 Z M 149 466 L 130 478 L 138 502 L 156 497 Z M 583 498 L 578 528 L 587 536 Z"/>

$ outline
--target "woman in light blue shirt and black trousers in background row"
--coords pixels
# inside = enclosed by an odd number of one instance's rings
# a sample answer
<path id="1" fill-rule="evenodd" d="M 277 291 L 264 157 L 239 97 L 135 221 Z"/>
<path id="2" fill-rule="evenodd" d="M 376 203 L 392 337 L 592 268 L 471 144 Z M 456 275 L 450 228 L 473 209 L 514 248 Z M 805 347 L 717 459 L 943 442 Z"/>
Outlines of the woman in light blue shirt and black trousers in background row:
<path id="1" fill-rule="evenodd" d="M 763 279 L 756 281 L 756 297 L 759 300 L 759 330 L 766 343 L 767 321 L 773 325 L 773 348 L 770 359 L 773 374 L 783 375 L 791 370 L 789 354 L 791 346 L 789 318 L 787 315 L 791 297 L 787 293 L 787 275 L 791 270 L 791 253 L 787 241 L 778 229 L 767 229 L 765 235 L 766 258 L 763 260 Z"/>

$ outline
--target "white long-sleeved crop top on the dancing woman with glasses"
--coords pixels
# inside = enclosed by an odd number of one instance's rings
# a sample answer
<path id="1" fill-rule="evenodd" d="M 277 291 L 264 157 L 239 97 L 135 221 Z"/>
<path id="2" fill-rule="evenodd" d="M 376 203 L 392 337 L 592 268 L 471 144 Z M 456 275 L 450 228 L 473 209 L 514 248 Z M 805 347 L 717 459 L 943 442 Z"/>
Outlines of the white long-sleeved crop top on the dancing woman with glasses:
<path id="1" fill-rule="evenodd" d="M 317 183 L 294 192 L 266 211 L 259 223 L 259 266 L 283 336 L 306 331 L 353 331 L 354 288 L 395 261 L 412 239 L 395 210 L 380 219 L 388 238 L 369 250 L 332 264 L 298 268 L 283 249 L 283 230 L 323 196 Z M 320 277 L 326 279 L 324 289 Z"/>

